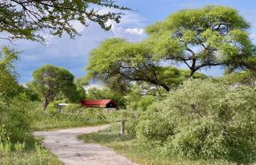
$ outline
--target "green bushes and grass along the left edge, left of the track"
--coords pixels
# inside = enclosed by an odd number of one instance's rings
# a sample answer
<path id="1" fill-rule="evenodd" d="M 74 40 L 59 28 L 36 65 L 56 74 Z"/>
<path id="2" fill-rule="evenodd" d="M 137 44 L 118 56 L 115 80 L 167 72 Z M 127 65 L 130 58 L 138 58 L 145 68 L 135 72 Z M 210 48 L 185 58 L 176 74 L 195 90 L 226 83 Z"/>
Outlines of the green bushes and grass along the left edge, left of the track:
<path id="1" fill-rule="evenodd" d="M 15 62 L 18 53 L 6 46 L 0 53 L 0 164 L 61 164 L 53 155 L 34 151 L 31 134 L 31 116 L 34 110 L 30 101 L 38 100 L 29 88 L 18 85 Z"/>

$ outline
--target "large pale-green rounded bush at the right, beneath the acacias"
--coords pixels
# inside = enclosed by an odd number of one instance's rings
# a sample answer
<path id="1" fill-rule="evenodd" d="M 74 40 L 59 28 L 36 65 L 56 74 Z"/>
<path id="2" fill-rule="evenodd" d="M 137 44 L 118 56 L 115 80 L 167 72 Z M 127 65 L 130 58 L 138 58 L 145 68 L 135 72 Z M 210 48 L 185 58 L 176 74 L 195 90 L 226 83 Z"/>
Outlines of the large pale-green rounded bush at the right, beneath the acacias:
<path id="1" fill-rule="evenodd" d="M 256 148 L 255 88 L 186 81 L 141 117 L 141 143 L 169 155 L 250 162 Z"/>

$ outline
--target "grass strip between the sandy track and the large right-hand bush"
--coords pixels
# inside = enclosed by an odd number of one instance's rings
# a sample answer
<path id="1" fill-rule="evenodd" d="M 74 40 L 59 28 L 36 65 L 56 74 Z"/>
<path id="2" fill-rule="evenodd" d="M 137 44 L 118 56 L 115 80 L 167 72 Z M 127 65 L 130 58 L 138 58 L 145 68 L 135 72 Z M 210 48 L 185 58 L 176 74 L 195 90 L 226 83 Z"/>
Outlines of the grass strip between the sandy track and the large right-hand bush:
<path id="1" fill-rule="evenodd" d="M 78 136 L 85 143 L 101 143 L 103 146 L 114 149 L 119 154 L 142 165 L 233 165 L 226 160 L 186 160 L 167 157 L 158 151 L 158 148 L 140 147 L 134 136 L 118 134 L 118 125 L 100 132 Z"/>

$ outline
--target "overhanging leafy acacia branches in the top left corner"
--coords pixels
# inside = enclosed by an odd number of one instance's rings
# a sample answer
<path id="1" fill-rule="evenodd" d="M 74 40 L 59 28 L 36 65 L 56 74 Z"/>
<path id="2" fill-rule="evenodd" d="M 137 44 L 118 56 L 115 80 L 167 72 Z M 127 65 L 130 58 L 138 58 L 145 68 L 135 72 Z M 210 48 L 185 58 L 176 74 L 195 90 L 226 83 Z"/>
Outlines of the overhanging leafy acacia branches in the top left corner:
<path id="1" fill-rule="evenodd" d="M 84 26 L 88 22 L 96 22 L 103 29 L 109 30 L 106 22 L 119 22 L 121 13 L 109 12 L 101 14 L 99 7 L 129 10 L 118 6 L 112 0 L 6 0 L 0 1 L 0 32 L 10 33 L 5 39 L 26 38 L 44 41 L 42 32 L 54 36 L 62 36 L 66 32 L 70 37 L 78 34 L 72 22 L 78 21 Z"/>

